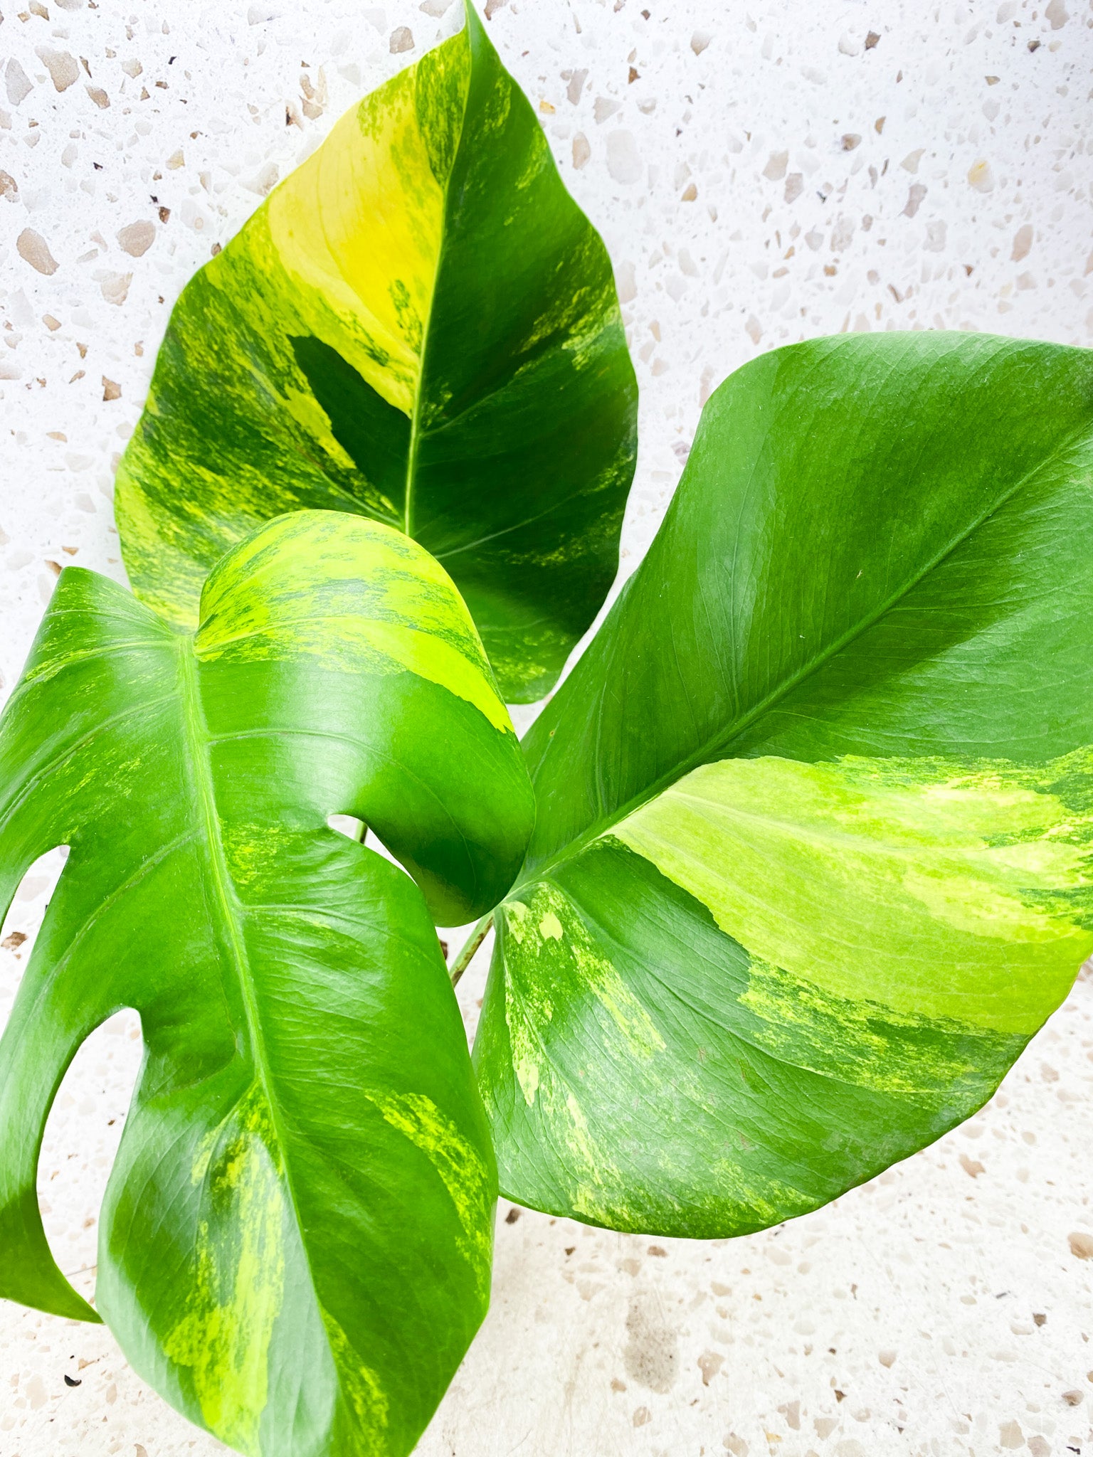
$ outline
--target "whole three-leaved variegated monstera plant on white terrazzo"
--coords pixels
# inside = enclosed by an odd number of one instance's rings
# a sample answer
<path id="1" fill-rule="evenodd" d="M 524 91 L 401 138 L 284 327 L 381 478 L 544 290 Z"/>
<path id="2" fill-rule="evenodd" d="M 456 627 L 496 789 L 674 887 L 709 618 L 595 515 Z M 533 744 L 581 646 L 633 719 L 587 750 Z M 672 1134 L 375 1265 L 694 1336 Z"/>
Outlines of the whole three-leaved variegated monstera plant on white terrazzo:
<path id="1" fill-rule="evenodd" d="M 616 570 L 634 393 L 468 4 L 182 293 L 118 481 L 136 596 L 67 568 L 0 720 L 0 905 L 70 851 L 0 1040 L 0 1294 L 105 1319 L 242 1453 L 411 1451 L 498 1185 L 803 1214 L 978 1109 L 1093 950 L 1093 358 L 739 370 L 519 745 Z M 92 1308 L 35 1176 L 122 1007 Z"/>

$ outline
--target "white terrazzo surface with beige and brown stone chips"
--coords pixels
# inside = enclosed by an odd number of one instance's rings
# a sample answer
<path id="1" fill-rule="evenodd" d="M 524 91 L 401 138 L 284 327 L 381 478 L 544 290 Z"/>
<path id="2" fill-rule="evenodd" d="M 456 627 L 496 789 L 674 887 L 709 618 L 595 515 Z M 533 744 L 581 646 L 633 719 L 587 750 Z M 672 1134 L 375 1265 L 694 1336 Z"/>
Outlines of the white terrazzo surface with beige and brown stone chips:
<path id="1" fill-rule="evenodd" d="M 182 284 L 459 7 L 0 6 L 6 692 L 57 564 L 121 573 L 112 468 Z M 1093 344 L 1089 0 L 487 13 L 616 264 L 643 392 L 625 568 L 705 393 L 761 350 L 941 326 Z M 35 867 L 4 924 L 0 1017 L 58 868 Z M 471 1018 L 482 973 L 479 956 L 461 986 Z M 102 1027 L 47 1135 L 47 1227 L 87 1292 L 138 1049 L 134 1018 Z M 493 1311 L 420 1451 L 1090 1457 L 1092 1059 L 1083 981 L 972 1123 L 746 1240 L 509 1222 L 503 1202 Z M 0 1457 L 214 1450 L 102 1329 L 0 1304 Z"/>

